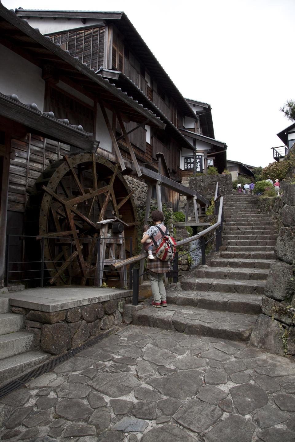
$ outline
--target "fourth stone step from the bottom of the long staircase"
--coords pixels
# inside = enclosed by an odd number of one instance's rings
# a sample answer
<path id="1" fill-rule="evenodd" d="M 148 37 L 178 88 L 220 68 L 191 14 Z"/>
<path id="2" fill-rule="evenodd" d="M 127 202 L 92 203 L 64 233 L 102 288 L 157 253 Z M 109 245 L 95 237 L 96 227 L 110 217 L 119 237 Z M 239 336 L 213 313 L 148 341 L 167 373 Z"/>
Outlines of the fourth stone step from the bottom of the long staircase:
<path id="1" fill-rule="evenodd" d="M 236 280 L 263 280 L 266 281 L 268 269 L 204 267 L 199 266 L 193 271 L 196 278 L 236 279 Z"/>

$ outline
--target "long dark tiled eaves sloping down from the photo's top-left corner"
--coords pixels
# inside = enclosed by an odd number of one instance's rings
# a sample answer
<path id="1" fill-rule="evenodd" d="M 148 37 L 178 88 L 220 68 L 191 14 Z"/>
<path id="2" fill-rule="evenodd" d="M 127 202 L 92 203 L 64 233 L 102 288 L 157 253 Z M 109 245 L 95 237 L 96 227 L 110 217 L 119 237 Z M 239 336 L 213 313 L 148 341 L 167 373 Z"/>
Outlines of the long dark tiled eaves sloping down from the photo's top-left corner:
<path id="1" fill-rule="evenodd" d="M 51 42 L 50 38 L 40 34 L 38 29 L 33 29 L 27 20 L 17 17 L 14 10 L 9 11 L 2 4 L 0 4 L 0 28 L 5 36 L 4 39 L 6 38 L 8 42 L 12 42 L 19 49 L 25 48 L 40 63 L 48 60 L 51 63 L 54 62 L 56 68 L 63 72 L 64 76 L 73 77 L 77 84 L 83 85 L 86 90 L 94 94 L 100 93 L 101 99 L 119 108 L 123 113 L 127 115 L 129 113 L 130 119 L 134 118 L 132 121 L 149 120 L 152 126 L 165 128 L 165 123 L 161 122 L 161 119 L 152 111 L 116 88 L 115 84 L 97 76 L 94 69 L 89 69 L 85 63 L 79 61 L 78 57 L 72 57 L 62 50 Z M 9 39 L 6 35 L 9 35 Z"/>

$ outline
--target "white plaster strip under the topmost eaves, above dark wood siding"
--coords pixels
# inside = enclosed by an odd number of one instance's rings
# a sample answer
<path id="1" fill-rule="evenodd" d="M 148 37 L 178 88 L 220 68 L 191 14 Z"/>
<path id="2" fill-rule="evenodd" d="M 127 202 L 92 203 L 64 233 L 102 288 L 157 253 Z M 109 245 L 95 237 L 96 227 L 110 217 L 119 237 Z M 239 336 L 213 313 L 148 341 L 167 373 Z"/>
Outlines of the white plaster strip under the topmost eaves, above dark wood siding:
<path id="1" fill-rule="evenodd" d="M 40 19 L 38 17 L 30 17 L 28 22 L 31 27 L 38 27 L 41 34 L 51 34 L 52 32 L 61 32 L 63 30 L 76 29 L 79 27 L 103 24 L 102 20 L 99 19 L 87 19 L 86 24 L 83 24 L 80 19 L 56 19 L 51 17 L 46 17 Z"/>

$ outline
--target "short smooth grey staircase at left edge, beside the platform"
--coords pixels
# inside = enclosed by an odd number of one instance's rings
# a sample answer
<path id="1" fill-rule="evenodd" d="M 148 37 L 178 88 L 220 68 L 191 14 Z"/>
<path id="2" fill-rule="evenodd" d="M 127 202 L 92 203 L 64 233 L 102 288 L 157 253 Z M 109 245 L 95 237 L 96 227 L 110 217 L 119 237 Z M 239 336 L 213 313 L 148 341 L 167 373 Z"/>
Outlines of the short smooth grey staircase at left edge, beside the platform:
<path id="1" fill-rule="evenodd" d="M 9 297 L 0 297 L 0 384 L 48 358 L 34 351 L 34 335 L 24 329 L 24 315 L 11 313 Z"/>

